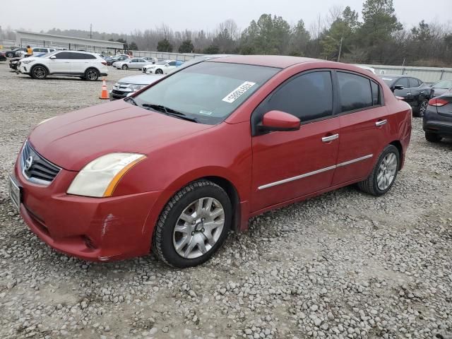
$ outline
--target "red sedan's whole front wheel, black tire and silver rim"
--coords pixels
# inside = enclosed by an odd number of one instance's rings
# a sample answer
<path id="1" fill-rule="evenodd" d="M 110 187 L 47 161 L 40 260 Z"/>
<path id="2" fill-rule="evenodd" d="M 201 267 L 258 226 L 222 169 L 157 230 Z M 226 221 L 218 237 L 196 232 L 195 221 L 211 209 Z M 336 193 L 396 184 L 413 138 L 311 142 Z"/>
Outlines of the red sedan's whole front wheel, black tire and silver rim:
<path id="1" fill-rule="evenodd" d="M 163 208 L 155 225 L 153 252 L 172 267 L 200 265 L 220 248 L 231 222 L 232 205 L 225 190 L 208 180 L 192 182 Z"/>

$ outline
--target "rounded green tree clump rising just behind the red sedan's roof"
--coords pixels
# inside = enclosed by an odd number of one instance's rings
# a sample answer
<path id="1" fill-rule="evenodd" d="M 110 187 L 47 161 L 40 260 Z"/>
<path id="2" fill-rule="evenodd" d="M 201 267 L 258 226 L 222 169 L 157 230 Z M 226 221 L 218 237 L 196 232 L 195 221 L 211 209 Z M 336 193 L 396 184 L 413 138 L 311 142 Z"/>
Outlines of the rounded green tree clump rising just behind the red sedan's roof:
<path id="1" fill-rule="evenodd" d="M 252 20 L 242 33 L 241 52 L 251 49 L 258 54 L 284 54 L 290 40 L 290 25 L 280 16 L 262 14 Z"/>

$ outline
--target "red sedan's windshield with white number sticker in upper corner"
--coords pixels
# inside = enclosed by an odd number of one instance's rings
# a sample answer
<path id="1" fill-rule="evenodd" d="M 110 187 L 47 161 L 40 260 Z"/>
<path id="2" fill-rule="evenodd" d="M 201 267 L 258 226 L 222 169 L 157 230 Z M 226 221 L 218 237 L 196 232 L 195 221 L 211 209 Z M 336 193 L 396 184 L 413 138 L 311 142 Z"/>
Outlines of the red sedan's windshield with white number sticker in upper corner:
<path id="1" fill-rule="evenodd" d="M 168 76 L 134 97 L 137 105 L 161 105 L 218 124 L 280 69 L 202 62 Z"/>

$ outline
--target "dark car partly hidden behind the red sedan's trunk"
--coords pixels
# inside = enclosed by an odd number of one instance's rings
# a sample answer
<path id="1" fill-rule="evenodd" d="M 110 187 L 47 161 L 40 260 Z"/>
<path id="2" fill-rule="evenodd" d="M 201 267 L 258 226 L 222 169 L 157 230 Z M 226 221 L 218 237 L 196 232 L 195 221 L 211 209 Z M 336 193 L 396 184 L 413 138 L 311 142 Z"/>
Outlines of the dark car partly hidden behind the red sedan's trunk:
<path id="1" fill-rule="evenodd" d="M 412 76 L 384 74 L 379 77 L 391 88 L 396 97 L 400 97 L 410 104 L 413 114 L 417 115 L 417 117 L 424 116 L 425 109 L 427 109 L 428 102 L 433 94 L 433 90 L 429 85 Z"/>

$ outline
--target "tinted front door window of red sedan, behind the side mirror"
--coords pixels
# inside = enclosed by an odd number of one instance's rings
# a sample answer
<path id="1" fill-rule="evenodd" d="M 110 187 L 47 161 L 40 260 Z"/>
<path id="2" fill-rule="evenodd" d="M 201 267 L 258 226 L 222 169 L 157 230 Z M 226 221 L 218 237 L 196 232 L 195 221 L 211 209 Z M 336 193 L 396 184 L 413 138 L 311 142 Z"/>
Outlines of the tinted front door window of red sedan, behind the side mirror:
<path id="1" fill-rule="evenodd" d="M 277 109 L 302 123 L 333 114 L 333 86 L 329 71 L 297 76 L 283 84 L 268 100 L 266 112 Z"/>

